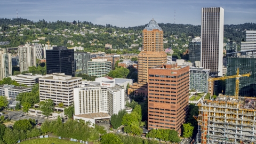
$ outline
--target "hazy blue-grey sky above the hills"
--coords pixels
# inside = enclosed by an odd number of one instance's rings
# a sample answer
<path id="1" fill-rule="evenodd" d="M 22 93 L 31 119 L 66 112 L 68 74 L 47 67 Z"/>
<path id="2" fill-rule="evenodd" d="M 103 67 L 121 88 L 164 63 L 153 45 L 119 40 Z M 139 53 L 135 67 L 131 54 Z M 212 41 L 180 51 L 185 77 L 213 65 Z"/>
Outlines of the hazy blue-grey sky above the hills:
<path id="1" fill-rule="evenodd" d="M 0 18 L 90 21 L 118 27 L 157 23 L 201 25 L 202 7 L 222 7 L 224 24 L 256 23 L 255 0 L 0 0 Z M 175 15 L 175 17 L 174 17 Z M 174 20 L 175 19 L 175 20 Z"/>

